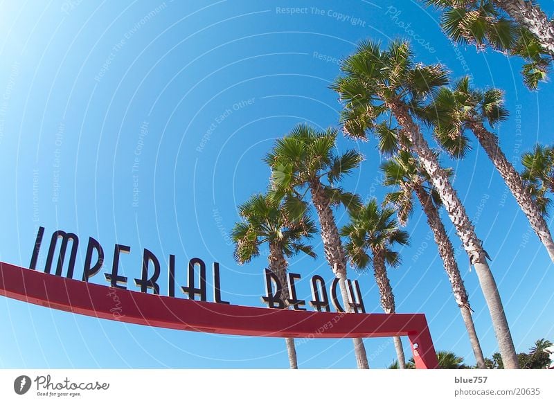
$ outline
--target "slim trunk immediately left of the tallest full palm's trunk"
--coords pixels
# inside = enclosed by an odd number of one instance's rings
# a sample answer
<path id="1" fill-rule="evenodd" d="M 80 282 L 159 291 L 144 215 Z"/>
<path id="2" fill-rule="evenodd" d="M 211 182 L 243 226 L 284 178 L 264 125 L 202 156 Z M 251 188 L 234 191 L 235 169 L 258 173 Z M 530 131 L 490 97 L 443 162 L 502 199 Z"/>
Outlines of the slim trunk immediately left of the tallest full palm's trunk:
<path id="1" fill-rule="evenodd" d="M 483 357 L 481 343 L 479 343 L 479 338 L 477 337 L 477 333 L 475 331 L 470 301 L 467 297 L 467 290 L 465 289 L 465 285 L 463 285 L 462 275 L 458 269 L 456 258 L 454 258 L 454 247 L 452 247 L 452 242 L 450 242 L 450 239 L 448 238 L 443 220 L 440 219 L 438 208 L 436 208 L 431 200 L 431 195 L 429 195 L 427 190 L 423 188 L 421 183 L 415 183 L 413 188 L 415 195 L 417 195 L 421 206 L 423 207 L 423 211 L 427 216 L 427 223 L 429 224 L 431 231 L 433 231 L 435 242 L 438 247 L 438 254 L 440 255 L 440 258 L 443 259 L 443 265 L 448 275 L 450 285 L 452 286 L 452 294 L 454 294 L 454 299 L 456 300 L 458 307 L 460 307 L 463 323 L 465 324 L 465 329 L 470 337 L 470 343 L 476 359 L 477 368 L 484 369 L 485 357 Z"/>

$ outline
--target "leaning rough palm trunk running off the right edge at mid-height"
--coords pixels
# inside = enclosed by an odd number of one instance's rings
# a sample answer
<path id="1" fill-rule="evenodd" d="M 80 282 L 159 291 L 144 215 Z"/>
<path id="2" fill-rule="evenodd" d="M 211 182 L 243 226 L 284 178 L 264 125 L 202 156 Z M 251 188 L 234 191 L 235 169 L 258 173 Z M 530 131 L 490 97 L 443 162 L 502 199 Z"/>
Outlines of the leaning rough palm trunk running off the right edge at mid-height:
<path id="1" fill-rule="evenodd" d="M 554 241 L 548 230 L 546 220 L 544 220 L 537 204 L 533 202 L 529 192 L 526 192 L 521 176 L 519 176 L 519 173 L 515 170 L 510 161 L 506 159 L 506 155 L 504 155 L 498 145 L 497 136 L 485 129 L 482 123 L 476 121 L 470 122 L 470 129 L 472 129 L 481 147 L 485 149 L 492 163 L 494 163 L 494 166 L 497 168 L 498 172 L 500 172 L 501 177 L 506 182 L 506 185 L 508 185 L 512 195 L 514 195 L 517 204 L 519 204 L 519 207 L 527 216 L 531 227 L 544 244 L 544 247 L 546 247 L 548 256 L 550 256 L 551 260 L 554 262 Z"/>

